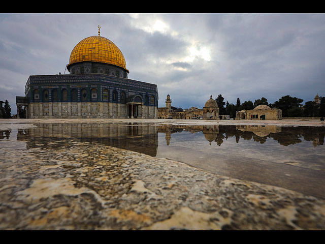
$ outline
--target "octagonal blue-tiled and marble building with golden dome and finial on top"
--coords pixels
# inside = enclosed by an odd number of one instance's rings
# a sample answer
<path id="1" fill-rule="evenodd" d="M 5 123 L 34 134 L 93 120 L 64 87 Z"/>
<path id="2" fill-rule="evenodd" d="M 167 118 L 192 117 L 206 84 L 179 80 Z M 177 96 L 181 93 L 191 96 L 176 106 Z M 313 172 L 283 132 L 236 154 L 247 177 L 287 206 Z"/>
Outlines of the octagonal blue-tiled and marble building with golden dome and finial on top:
<path id="1" fill-rule="evenodd" d="M 128 79 L 123 53 L 100 31 L 73 48 L 67 69 L 30 75 L 17 111 L 24 105 L 26 118 L 157 118 L 157 85 Z"/>

